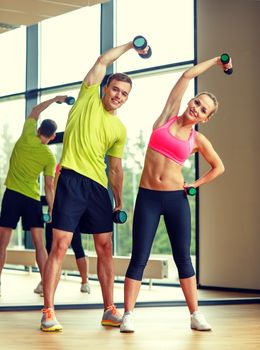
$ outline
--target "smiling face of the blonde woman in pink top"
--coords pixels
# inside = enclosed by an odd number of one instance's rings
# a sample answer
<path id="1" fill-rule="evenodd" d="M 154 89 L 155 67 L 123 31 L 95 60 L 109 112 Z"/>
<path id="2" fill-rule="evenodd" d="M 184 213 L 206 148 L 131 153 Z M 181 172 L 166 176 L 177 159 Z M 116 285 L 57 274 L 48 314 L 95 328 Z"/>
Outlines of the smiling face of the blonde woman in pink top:
<path id="1" fill-rule="evenodd" d="M 202 94 L 190 100 L 185 114 L 197 124 L 207 121 L 214 110 L 213 100 L 208 95 Z"/>

